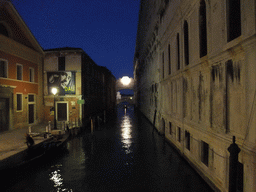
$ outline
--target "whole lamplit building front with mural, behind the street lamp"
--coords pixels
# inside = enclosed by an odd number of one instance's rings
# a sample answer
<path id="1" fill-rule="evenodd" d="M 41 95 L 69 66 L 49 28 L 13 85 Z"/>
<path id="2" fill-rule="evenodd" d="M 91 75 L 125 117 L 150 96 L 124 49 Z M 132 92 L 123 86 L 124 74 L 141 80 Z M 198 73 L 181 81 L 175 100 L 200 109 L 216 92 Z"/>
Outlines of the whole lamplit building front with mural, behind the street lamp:
<path id="1" fill-rule="evenodd" d="M 58 48 L 45 50 L 44 104 L 45 120 L 57 124 L 81 122 L 82 119 L 82 55 L 83 50 Z M 54 96 L 52 88 L 57 88 Z M 55 106 L 54 106 L 55 97 Z"/>

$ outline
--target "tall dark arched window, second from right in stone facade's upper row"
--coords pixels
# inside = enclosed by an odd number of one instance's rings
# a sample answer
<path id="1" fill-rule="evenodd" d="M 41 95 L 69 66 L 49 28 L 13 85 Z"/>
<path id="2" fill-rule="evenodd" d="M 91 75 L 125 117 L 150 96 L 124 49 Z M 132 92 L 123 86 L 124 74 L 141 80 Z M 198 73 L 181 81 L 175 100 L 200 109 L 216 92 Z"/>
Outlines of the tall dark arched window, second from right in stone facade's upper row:
<path id="1" fill-rule="evenodd" d="M 207 55 L 207 28 L 206 28 L 206 5 L 205 1 L 200 1 L 199 8 L 199 41 L 200 57 Z"/>

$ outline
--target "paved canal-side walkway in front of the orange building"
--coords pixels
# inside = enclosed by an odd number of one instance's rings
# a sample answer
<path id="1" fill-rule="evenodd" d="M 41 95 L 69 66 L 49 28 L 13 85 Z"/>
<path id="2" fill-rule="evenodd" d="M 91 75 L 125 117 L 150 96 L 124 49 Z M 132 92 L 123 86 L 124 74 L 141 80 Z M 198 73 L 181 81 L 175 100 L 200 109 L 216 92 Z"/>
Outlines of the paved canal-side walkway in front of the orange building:
<path id="1" fill-rule="evenodd" d="M 47 124 L 31 126 L 31 133 L 44 133 Z M 25 134 L 29 132 L 29 127 L 15 129 L 0 133 L 0 164 L 1 161 L 26 150 L 27 144 Z M 42 136 L 34 137 L 35 145 L 47 140 Z"/>

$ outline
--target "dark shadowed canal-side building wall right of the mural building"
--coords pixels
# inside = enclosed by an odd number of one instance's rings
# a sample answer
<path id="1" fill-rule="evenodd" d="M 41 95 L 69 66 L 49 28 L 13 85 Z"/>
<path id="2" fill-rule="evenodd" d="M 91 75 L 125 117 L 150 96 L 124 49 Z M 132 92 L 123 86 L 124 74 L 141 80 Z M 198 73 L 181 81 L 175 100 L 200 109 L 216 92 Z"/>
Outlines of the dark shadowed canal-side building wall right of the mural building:
<path id="1" fill-rule="evenodd" d="M 86 59 L 84 75 L 84 122 L 95 126 L 106 122 L 115 111 L 116 78 L 106 67 L 99 66 L 91 58 Z M 89 120 L 89 121 L 88 121 Z"/>

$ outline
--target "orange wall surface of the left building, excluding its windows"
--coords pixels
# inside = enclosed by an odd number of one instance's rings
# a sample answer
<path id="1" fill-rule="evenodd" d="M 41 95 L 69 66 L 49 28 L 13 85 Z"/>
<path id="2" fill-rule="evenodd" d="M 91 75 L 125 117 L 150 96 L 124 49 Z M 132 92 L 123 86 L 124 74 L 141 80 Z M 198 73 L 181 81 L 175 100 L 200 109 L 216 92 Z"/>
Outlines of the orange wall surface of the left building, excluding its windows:
<path id="1" fill-rule="evenodd" d="M 26 57 L 26 56 L 24 56 Z M 0 78 L 0 85 L 2 86 L 11 86 L 14 87 L 13 89 L 13 98 L 12 101 L 12 125 L 10 129 L 17 129 L 17 128 L 23 128 L 28 126 L 28 94 L 34 94 L 35 97 L 35 114 L 34 114 L 34 123 L 37 123 L 37 121 L 41 119 L 40 116 L 43 114 L 40 113 L 42 110 L 40 98 L 42 96 L 38 95 L 40 90 L 40 84 L 39 78 L 38 78 L 38 70 L 39 66 L 36 63 L 33 63 L 29 60 L 17 57 L 15 55 L 11 55 L 8 53 L 5 53 L 3 51 L 0 51 L 0 58 L 4 59 L 8 62 L 8 73 L 7 78 Z M 17 64 L 22 65 L 22 80 L 17 80 Z M 39 64 L 42 65 L 42 63 L 39 62 Z M 29 82 L 29 68 L 34 69 L 34 82 Z M 42 67 L 41 67 L 42 68 Z M 42 92 L 42 91 L 41 91 Z M 17 93 L 22 94 L 22 110 L 17 111 Z"/>

